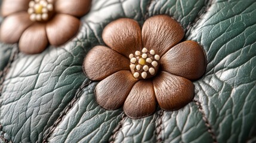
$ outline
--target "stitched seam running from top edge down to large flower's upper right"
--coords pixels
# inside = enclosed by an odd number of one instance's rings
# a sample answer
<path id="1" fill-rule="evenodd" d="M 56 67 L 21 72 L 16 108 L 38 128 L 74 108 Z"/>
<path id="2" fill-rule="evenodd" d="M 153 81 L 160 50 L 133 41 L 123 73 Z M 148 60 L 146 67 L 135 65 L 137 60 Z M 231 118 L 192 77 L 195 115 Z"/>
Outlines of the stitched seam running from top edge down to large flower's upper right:
<path id="1" fill-rule="evenodd" d="M 184 29 L 185 33 L 187 33 L 187 31 L 191 30 L 194 26 L 196 26 L 196 23 L 198 23 L 198 21 L 202 19 L 203 15 L 205 15 L 208 12 L 209 8 L 211 8 L 214 1 L 215 0 L 205 0 L 205 4 L 196 15 L 195 20 L 189 23 L 188 26 Z"/>

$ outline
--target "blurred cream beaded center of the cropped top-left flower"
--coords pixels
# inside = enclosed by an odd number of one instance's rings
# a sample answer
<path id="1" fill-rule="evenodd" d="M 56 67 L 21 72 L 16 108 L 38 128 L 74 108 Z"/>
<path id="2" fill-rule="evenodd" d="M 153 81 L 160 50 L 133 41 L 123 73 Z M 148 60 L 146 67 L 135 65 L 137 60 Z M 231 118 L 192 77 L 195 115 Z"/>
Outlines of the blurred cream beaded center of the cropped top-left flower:
<path id="1" fill-rule="evenodd" d="M 27 13 L 32 21 L 47 21 L 53 14 L 53 0 L 30 1 Z"/>

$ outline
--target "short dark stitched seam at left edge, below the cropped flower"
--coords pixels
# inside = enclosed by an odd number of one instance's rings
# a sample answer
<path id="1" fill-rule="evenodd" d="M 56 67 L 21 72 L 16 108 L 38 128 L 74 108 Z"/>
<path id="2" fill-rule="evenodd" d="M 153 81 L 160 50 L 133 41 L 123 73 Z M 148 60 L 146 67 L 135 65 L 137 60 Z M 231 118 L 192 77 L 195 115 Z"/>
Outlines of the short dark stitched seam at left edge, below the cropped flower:
<path id="1" fill-rule="evenodd" d="M 7 66 L 5 66 L 4 70 L 0 71 L 0 97 L 2 95 L 2 89 L 4 87 L 4 81 L 5 81 L 5 77 L 8 74 L 8 71 L 11 68 L 11 64 L 14 62 L 14 60 L 16 60 L 16 57 L 18 55 L 18 48 L 17 46 L 13 48 L 13 51 L 11 53 L 11 56 L 9 58 L 9 61 L 7 63 Z"/>

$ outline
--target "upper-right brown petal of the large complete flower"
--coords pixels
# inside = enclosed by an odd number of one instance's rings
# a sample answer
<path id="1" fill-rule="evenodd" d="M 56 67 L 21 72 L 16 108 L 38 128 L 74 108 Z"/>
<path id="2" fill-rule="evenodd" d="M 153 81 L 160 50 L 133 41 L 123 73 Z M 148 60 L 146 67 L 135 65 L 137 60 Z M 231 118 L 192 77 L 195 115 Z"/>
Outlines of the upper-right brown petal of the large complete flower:
<path id="1" fill-rule="evenodd" d="M 168 15 L 156 15 L 147 19 L 142 27 L 143 46 L 164 55 L 168 49 L 183 39 L 181 25 Z"/>

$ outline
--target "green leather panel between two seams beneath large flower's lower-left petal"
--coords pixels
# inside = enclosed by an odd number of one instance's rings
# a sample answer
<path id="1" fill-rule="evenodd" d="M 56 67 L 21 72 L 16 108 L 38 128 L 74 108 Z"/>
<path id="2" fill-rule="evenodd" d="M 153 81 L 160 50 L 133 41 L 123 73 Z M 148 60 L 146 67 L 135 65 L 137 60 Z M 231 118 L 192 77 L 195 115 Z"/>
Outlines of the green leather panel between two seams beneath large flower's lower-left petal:
<path id="1" fill-rule="evenodd" d="M 106 111 L 94 98 L 96 83 L 87 86 L 50 142 L 106 142 L 121 120 L 122 110 Z"/>

